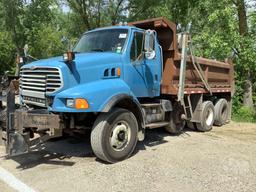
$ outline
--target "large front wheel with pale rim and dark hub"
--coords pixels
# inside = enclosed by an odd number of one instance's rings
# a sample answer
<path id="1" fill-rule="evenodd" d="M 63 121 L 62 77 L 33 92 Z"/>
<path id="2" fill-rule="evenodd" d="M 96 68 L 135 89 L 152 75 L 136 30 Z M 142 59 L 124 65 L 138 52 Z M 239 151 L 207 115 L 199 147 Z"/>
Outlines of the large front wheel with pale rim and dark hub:
<path id="1" fill-rule="evenodd" d="M 134 114 L 117 108 L 96 119 L 91 133 L 92 150 L 103 161 L 122 161 L 134 151 L 137 135 L 138 123 Z"/>

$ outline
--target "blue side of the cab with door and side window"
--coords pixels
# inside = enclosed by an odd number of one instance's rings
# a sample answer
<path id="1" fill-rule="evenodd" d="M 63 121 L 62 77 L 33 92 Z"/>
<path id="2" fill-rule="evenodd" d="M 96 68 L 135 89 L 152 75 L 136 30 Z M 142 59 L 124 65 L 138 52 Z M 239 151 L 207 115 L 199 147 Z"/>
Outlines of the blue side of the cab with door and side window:
<path id="1" fill-rule="evenodd" d="M 134 30 L 130 43 L 129 65 L 125 67 L 125 81 L 136 97 L 155 97 L 160 95 L 161 82 L 161 53 L 157 50 L 157 41 L 154 35 L 152 50 L 145 52 L 144 30 Z M 151 40 L 152 40 L 151 39 Z M 152 42 L 151 42 L 152 43 Z M 154 52 L 154 55 L 149 53 Z M 151 56 L 151 57 L 149 57 Z"/>

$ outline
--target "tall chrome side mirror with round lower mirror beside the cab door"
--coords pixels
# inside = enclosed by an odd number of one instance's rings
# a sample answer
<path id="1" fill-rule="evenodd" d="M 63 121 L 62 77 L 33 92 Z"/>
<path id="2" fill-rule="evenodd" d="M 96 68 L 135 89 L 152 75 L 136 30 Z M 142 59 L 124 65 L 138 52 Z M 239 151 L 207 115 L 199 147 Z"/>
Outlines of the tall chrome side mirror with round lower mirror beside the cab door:
<path id="1" fill-rule="evenodd" d="M 155 52 L 155 32 L 147 30 L 144 38 L 144 52 L 146 59 L 154 59 L 156 56 Z"/>

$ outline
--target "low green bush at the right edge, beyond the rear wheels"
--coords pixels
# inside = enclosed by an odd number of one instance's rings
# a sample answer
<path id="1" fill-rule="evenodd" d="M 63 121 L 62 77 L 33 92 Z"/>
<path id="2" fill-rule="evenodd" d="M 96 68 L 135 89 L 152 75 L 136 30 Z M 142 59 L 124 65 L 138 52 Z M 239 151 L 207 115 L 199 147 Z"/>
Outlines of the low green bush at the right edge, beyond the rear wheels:
<path id="1" fill-rule="evenodd" d="M 248 107 L 241 107 L 233 114 L 233 120 L 256 123 L 256 111 Z"/>

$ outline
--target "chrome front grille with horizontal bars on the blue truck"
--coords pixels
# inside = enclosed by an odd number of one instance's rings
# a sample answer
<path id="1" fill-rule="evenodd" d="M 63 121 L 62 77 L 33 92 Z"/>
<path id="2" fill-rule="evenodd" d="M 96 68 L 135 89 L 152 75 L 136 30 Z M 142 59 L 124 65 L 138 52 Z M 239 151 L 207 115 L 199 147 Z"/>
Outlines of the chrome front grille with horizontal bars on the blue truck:
<path id="1" fill-rule="evenodd" d="M 25 103 L 45 107 L 45 95 L 60 90 L 62 86 L 62 75 L 58 68 L 32 67 L 20 71 L 20 92 Z"/>

